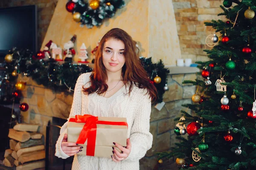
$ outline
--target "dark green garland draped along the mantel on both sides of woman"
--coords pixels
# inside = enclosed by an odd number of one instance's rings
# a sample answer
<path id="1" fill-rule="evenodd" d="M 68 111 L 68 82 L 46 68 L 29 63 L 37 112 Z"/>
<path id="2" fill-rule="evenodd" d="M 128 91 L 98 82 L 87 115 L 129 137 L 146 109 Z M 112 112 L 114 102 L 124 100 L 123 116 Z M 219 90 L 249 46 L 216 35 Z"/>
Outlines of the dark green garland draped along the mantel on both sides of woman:
<path id="1" fill-rule="evenodd" d="M 76 85 L 79 75 L 92 72 L 92 68 L 81 63 L 63 63 L 34 57 L 29 49 L 13 49 L 12 62 L 5 62 L 5 79 L 16 82 L 16 77 L 12 76 L 12 72 L 31 77 L 37 84 L 43 84 L 45 87 L 53 89 L 55 92 L 67 91 L 72 92 Z M 157 103 L 163 101 L 164 86 L 167 84 L 167 74 L 169 70 L 164 68 L 162 60 L 158 63 L 152 63 L 151 58 L 140 57 L 144 69 L 148 72 L 151 81 L 158 75 L 162 81 L 154 84 L 158 92 Z"/>

